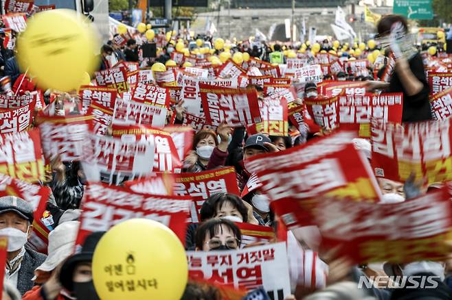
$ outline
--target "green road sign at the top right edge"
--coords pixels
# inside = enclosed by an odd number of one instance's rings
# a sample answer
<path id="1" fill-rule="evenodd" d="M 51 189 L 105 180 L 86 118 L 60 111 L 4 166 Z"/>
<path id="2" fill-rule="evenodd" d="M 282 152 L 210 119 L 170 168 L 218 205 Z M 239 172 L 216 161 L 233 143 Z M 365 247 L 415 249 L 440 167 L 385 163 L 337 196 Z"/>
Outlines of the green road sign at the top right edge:
<path id="1" fill-rule="evenodd" d="M 431 20 L 433 18 L 431 0 L 394 0 L 393 12 L 418 20 Z"/>

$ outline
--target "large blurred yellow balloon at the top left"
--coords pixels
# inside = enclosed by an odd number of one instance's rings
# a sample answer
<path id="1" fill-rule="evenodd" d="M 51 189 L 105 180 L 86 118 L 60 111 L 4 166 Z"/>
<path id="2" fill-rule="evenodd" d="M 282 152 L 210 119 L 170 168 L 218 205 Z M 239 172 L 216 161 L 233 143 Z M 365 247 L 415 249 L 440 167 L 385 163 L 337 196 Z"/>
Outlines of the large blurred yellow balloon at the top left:
<path id="1" fill-rule="evenodd" d="M 91 28 L 73 10 L 49 10 L 34 15 L 17 40 L 21 71 L 28 68 L 43 90 L 77 89 L 85 74 L 98 67 L 93 53 L 99 46 Z"/>

